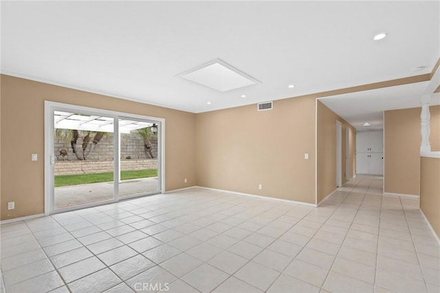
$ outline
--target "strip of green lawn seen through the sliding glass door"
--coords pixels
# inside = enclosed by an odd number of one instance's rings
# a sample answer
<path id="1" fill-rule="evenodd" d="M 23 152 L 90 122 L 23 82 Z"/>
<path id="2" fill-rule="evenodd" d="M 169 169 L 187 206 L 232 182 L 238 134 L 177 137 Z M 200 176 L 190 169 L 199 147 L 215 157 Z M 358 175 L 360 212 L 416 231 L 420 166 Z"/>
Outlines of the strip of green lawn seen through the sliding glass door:
<path id="1" fill-rule="evenodd" d="M 137 171 L 121 171 L 121 180 L 155 177 L 157 169 L 137 170 Z M 56 175 L 55 187 L 88 184 L 97 182 L 113 181 L 113 172 L 95 173 L 95 174 L 78 174 L 78 175 Z"/>

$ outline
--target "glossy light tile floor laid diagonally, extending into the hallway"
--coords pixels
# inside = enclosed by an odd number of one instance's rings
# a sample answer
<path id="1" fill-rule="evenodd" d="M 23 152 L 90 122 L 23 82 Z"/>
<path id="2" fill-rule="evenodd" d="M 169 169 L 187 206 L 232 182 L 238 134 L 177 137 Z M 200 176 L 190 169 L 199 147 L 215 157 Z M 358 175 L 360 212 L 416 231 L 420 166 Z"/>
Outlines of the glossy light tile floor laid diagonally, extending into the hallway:
<path id="1" fill-rule="evenodd" d="M 6 292 L 440 292 L 417 199 L 358 176 L 319 208 L 192 189 L 1 226 Z"/>

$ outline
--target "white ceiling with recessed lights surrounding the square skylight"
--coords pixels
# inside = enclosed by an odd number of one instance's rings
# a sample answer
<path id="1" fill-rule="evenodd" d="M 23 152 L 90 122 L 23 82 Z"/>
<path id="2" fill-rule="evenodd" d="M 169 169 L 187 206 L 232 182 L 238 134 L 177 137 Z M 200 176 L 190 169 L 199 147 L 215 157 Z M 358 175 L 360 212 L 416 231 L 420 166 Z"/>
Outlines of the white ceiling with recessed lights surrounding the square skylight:
<path id="1" fill-rule="evenodd" d="M 428 73 L 439 12 L 439 1 L 1 1 L 1 72 L 199 113 Z M 261 84 L 219 92 L 176 76 L 216 58 Z M 421 86 L 371 98 L 399 108 L 388 98 Z"/>

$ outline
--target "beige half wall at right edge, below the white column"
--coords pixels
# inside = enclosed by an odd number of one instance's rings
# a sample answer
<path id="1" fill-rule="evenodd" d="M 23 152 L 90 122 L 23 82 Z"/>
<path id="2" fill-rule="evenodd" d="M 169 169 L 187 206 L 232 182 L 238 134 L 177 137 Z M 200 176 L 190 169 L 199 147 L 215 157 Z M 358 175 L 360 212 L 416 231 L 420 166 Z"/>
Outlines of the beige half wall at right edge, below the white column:
<path id="1" fill-rule="evenodd" d="M 421 157 L 420 208 L 440 236 L 440 158 Z"/>

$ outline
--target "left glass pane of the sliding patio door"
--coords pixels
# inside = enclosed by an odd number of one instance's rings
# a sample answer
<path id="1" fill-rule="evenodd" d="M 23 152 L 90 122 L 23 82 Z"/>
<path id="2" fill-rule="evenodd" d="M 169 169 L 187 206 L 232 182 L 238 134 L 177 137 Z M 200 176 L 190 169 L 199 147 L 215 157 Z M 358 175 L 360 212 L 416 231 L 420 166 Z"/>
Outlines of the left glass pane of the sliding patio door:
<path id="1" fill-rule="evenodd" d="M 54 111 L 54 210 L 115 198 L 114 119 Z"/>

